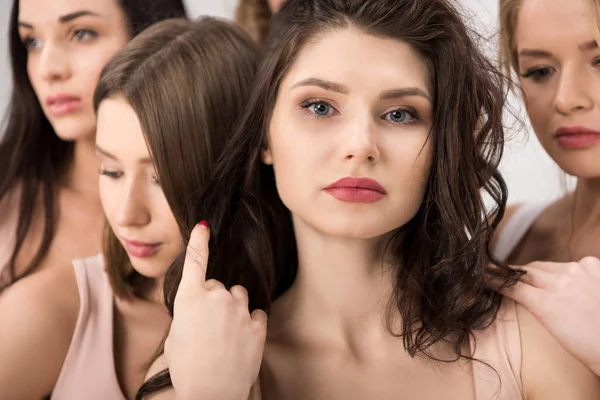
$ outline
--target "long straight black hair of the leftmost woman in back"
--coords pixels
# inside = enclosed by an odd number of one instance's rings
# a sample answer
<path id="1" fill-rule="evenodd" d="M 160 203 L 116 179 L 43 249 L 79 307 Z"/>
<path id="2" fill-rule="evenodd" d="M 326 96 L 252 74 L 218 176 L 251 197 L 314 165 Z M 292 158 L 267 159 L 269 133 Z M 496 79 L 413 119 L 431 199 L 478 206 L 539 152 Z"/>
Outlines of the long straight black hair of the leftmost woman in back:
<path id="1" fill-rule="evenodd" d="M 182 0 L 120 0 L 132 36 L 157 21 L 185 17 Z M 72 162 L 73 143 L 61 140 L 44 115 L 27 75 L 27 51 L 18 31 L 19 0 L 10 16 L 9 40 L 13 90 L 0 141 L 0 202 L 20 185 L 15 247 L 8 264 L 0 265 L 0 291 L 36 269 L 50 249 L 56 222 L 56 182 Z M 38 198 L 43 199 L 44 229 L 39 248 L 21 276 L 15 263 L 31 228 Z"/>

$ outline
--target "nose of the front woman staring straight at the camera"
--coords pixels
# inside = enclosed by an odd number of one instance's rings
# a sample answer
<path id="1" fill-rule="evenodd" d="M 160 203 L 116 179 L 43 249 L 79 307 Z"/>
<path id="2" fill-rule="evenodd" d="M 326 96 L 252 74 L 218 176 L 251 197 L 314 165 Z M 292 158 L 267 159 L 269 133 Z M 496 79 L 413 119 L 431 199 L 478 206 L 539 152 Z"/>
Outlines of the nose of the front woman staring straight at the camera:
<path id="1" fill-rule="evenodd" d="M 377 164 L 380 158 L 377 126 L 371 116 L 350 121 L 347 129 L 348 135 L 344 135 L 344 159 L 357 164 Z"/>

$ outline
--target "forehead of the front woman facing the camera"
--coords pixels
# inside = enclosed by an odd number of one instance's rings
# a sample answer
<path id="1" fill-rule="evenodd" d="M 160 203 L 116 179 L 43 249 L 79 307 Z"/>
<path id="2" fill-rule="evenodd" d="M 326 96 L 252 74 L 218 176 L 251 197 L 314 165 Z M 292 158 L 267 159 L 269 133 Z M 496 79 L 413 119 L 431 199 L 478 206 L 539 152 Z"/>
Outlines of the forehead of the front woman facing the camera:
<path id="1" fill-rule="evenodd" d="M 313 76 L 350 89 L 401 85 L 417 86 L 431 94 L 427 64 L 408 43 L 356 28 L 333 30 L 306 44 L 287 74 L 287 85 Z"/>

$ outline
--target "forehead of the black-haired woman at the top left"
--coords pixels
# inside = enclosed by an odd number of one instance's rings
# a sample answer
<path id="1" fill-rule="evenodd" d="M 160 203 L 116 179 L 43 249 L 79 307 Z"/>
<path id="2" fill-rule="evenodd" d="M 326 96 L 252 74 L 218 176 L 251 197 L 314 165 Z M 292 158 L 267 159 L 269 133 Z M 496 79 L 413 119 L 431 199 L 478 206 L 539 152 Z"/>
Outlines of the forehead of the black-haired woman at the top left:
<path id="1" fill-rule="evenodd" d="M 79 11 L 91 11 L 105 18 L 124 13 L 119 0 L 19 0 L 19 20 L 26 22 L 55 22 Z"/>

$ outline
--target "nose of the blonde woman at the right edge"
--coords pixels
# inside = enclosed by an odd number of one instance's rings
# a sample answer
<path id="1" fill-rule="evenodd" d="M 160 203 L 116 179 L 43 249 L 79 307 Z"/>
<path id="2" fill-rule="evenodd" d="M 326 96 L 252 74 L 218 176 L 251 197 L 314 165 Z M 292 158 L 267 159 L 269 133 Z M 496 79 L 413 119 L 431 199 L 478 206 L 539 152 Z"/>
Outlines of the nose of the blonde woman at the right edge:
<path id="1" fill-rule="evenodd" d="M 594 103 L 589 92 L 593 85 L 588 82 L 589 79 L 589 74 L 585 71 L 576 68 L 564 68 L 558 81 L 554 99 L 556 111 L 563 115 L 569 115 L 592 108 Z"/>

